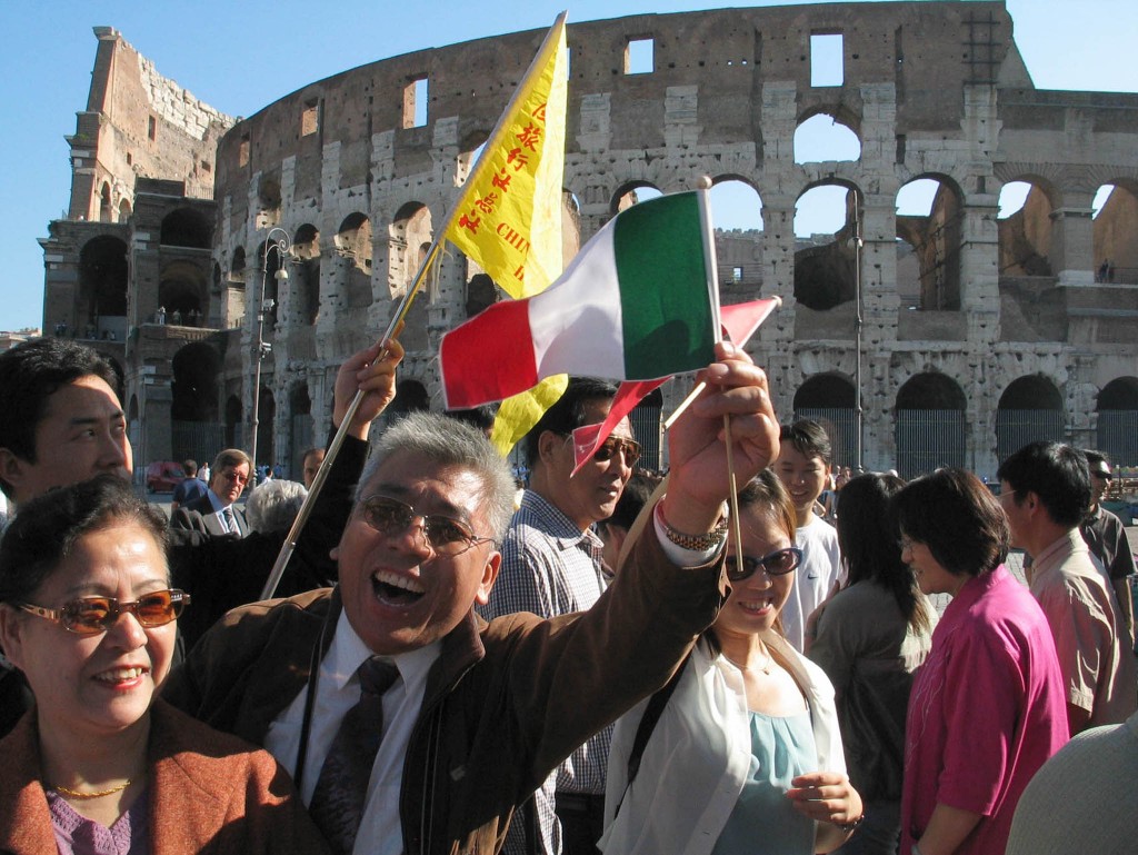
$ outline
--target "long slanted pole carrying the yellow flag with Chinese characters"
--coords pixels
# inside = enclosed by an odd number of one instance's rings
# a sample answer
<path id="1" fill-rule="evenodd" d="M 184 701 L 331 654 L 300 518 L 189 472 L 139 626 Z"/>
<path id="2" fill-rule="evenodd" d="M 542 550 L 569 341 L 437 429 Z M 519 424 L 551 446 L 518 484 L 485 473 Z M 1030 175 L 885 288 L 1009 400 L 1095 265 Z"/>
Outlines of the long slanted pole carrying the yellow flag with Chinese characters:
<path id="1" fill-rule="evenodd" d="M 543 63 L 549 59 L 550 52 L 556 49 L 556 39 L 560 36 L 562 27 L 564 27 L 567 16 L 568 13 L 562 11 L 553 23 L 553 26 L 550 27 L 550 31 L 545 35 L 545 40 L 542 42 L 542 47 L 537 51 L 537 56 L 534 57 L 529 68 L 526 69 L 526 75 L 514 90 L 513 96 L 510 98 L 510 102 L 506 105 L 505 110 L 498 118 L 497 125 L 495 125 L 493 133 L 490 133 L 485 150 L 492 150 L 490 147 L 500 145 L 501 140 L 505 137 L 506 125 L 513 114 L 516 104 L 523 93 L 528 92 L 528 83 L 530 82 L 533 75 L 543 67 Z M 473 192 L 473 188 L 476 186 L 475 180 L 478 179 L 486 168 L 488 168 L 488 163 L 489 158 L 485 158 L 485 161 L 479 158 L 479 163 L 475 164 L 475 171 L 469 174 L 467 180 L 463 182 L 462 192 L 459 195 L 455 204 L 451 207 L 451 212 L 447 215 L 443 228 L 436 232 L 437 237 L 431 241 L 430 247 L 427 249 L 427 254 L 423 256 L 422 263 L 419 265 L 419 271 L 415 273 L 415 278 L 412 280 L 411 287 L 407 288 L 406 293 L 403 295 L 403 299 L 399 302 L 395 314 L 391 316 L 387 331 L 380 339 L 381 342 L 387 342 L 398 335 L 398 332 L 402 332 L 403 321 L 406 318 L 407 312 L 411 311 L 411 303 L 414 301 L 423 280 L 427 278 L 427 271 L 430 269 L 431 264 L 435 263 L 439 249 L 446 240 L 446 235 L 454 224 L 457 213 L 467 207 L 468 197 L 471 192 Z M 378 359 L 386 359 L 387 355 L 388 353 L 385 348 L 380 352 Z M 273 569 L 269 574 L 269 579 L 265 582 L 265 585 L 261 591 L 262 600 L 271 599 L 277 592 L 277 586 L 280 584 L 281 576 L 284 575 L 284 568 L 288 566 L 289 559 L 292 557 L 292 552 L 296 551 L 296 543 L 297 540 L 299 540 L 300 532 L 304 531 L 305 524 L 312 516 L 312 509 L 315 504 L 316 496 L 320 495 L 320 491 L 323 488 L 324 482 L 328 480 L 328 472 L 331 470 L 332 461 L 336 460 L 336 455 L 339 454 L 340 447 L 344 445 L 344 439 L 347 437 L 348 426 L 355 418 L 355 414 L 360 409 L 360 404 L 363 402 L 363 390 L 357 389 L 355 396 L 352 398 L 352 402 L 348 404 L 347 412 L 340 421 L 340 426 L 336 430 L 332 442 L 328 446 L 324 460 L 316 470 L 316 477 L 312 482 L 312 487 L 308 488 L 308 495 L 305 496 L 304 504 L 300 507 L 299 512 L 296 515 L 296 519 L 292 521 L 292 527 L 284 537 L 284 543 L 281 545 L 281 550 L 277 556 L 277 561 L 273 564 Z"/>

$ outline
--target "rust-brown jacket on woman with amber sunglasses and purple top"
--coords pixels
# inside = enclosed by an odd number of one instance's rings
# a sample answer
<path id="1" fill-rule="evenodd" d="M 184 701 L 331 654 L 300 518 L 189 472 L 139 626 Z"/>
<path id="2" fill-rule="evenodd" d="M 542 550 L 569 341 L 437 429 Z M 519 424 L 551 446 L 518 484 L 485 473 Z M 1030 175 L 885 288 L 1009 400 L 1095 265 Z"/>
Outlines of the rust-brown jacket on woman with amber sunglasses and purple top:
<path id="1" fill-rule="evenodd" d="M 151 708 L 150 855 L 328 852 L 288 774 L 267 751 L 157 701 Z M 35 710 L 0 741 L 0 852 L 58 855 L 40 781 Z"/>

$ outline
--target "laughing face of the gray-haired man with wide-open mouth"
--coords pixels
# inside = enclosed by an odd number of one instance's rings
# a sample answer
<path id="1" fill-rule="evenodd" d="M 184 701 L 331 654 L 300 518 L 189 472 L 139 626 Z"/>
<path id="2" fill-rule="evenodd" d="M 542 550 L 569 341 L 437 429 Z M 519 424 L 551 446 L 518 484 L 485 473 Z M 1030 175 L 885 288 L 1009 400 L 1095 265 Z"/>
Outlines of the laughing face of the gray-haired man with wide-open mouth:
<path id="1" fill-rule="evenodd" d="M 476 536 L 493 535 L 481 505 L 479 478 L 442 467 L 421 454 L 394 454 L 376 470 L 364 496 L 381 494 L 417 513 L 442 513 L 468 524 Z M 436 554 L 423 537 L 422 518 L 385 536 L 352 515 L 337 549 L 340 594 L 352 627 L 376 653 L 424 647 L 451 632 L 485 603 L 502 557 L 490 542 L 461 554 Z"/>

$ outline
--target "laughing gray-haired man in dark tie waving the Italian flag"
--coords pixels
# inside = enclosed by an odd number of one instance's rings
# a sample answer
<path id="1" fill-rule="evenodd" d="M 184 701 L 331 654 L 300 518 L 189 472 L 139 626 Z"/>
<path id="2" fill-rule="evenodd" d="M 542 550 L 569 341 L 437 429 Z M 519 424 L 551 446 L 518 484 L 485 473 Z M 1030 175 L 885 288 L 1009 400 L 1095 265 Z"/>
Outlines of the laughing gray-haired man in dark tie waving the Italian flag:
<path id="1" fill-rule="evenodd" d="M 762 371 L 717 347 L 671 428 L 667 494 L 588 611 L 475 613 L 497 577 L 513 479 L 483 434 L 414 413 L 372 449 L 339 584 L 231 613 L 167 699 L 272 751 L 339 852 L 498 852 L 517 806 L 662 687 L 723 602 L 726 442 L 745 482 L 777 454 L 778 422 Z"/>

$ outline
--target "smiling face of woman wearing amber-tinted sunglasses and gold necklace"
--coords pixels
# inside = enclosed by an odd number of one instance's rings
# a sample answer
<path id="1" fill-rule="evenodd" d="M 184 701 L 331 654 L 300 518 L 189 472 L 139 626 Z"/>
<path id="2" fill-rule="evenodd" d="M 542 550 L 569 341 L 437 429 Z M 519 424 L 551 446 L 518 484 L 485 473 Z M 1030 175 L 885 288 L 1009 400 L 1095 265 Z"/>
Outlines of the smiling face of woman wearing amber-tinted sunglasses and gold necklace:
<path id="1" fill-rule="evenodd" d="M 59 609 L 80 597 L 130 602 L 168 587 L 166 558 L 135 523 L 113 524 L 79 539 L 72 553 L 30 597 Z M 40 730 L 82 737 L 145 726 L 155 692 L 170 673 L 176 623 L 143 628 L 134 615 L 93 635 L 0 607 L 0 643 L 35 693 Z"/>

